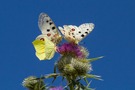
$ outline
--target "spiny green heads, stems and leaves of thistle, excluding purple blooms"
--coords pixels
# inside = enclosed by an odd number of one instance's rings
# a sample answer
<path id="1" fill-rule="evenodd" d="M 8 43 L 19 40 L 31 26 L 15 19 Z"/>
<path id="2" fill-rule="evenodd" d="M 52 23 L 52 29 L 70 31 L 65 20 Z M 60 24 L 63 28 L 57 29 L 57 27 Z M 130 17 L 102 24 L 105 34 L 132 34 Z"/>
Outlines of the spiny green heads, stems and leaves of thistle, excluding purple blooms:
<path id="1" fill-rule="evenodd" d="M 102 79 L 98 75 L 89 74 L 88 68 L 91 70 L 90 63 L 101 58 L 103 58 L 103 56 L 90 59 L 78 59 L 71 56 L 63 56 L 55 63 L 54 73 L 47 74 L 40 78 L 30 76 L 24 79 L 23 86 L 28 88 L 28 90 L 49 90 L 50 87 L 45 85 L 44 80 L 54 78 L 52 81 L 54 82 L 57 77 L 61 76 L 63 78 L 62 80 L 67 81 L 67 85 L 64 87 L 65 90 L 95 90 L 90 88 L 90 82 L 88 82 L 87 79 Z M 85 81 L 86 85 L 82 84 L 81 81 Z"/>

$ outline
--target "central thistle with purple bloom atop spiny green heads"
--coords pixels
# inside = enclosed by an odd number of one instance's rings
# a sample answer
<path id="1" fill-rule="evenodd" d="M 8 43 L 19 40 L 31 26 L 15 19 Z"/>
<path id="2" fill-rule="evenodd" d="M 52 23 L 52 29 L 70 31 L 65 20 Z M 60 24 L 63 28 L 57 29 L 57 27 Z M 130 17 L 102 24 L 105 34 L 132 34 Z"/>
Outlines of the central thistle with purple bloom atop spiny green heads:
<path id="1" fill-rule="evenodd" d="M 82 84 L 78 81 L 79 78 L 99 79 L 99 76 L 88 74 L 92 71 L 92 66 L 89 59 L 87 59 L 89 52 L 86 48 L 74 43 L 64 43 L 57 48 L 57 51 L 61 54 L 61 57 L 57 61 L 56 67 L 68 81 L 67 84 L 70 90 L 81 89 Z M 75 87 L 80 88 L 75 89 Z"/>

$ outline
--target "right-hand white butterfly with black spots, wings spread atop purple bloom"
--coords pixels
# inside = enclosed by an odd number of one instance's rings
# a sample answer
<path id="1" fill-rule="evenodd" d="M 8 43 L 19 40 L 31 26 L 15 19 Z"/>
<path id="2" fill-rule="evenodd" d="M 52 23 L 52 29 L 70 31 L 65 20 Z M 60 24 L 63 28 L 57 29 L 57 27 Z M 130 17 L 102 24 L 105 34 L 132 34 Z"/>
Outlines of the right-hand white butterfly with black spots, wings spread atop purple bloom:
<path id="1" fill-rule="evenodd" d="M 69 42 L 80 42 L 83 38 L 85 38 L 93 29 L 93 23 L 84 23 L 79 27 L 75 25 L 64 25 L 62 27 L 58 27 L 61 33 L 64 35 L 64 38 Z"/>

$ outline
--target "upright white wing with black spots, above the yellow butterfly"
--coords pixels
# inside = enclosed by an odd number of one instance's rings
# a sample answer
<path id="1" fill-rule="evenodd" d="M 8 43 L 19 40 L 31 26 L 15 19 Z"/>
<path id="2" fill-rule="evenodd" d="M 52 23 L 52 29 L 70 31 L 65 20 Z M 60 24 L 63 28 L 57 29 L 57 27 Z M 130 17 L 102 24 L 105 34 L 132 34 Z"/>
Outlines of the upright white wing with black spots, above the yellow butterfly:
<path id="1" fill-rule="evenodd" d="M 38 26 L 42 34 L 53 43 L 57 44 L 61 41 L 62 38 L 57 27 L 47 14 L 41 13 L 39 15 Z"/>

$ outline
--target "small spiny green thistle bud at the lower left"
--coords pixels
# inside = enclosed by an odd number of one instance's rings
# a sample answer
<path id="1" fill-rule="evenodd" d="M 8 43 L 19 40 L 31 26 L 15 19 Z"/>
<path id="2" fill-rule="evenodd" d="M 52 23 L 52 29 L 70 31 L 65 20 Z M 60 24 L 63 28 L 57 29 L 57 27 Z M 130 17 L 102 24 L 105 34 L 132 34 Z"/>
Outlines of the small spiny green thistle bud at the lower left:
<path id="1" fill-rule="evenodd" d="M 22 85 L 29 90 L 46 90 L 43 80 L 37 79 L 35 76 L 24 79 Z"/>

